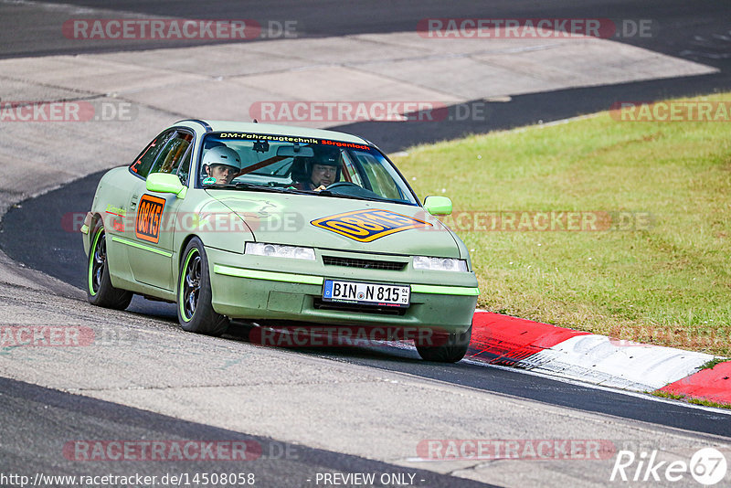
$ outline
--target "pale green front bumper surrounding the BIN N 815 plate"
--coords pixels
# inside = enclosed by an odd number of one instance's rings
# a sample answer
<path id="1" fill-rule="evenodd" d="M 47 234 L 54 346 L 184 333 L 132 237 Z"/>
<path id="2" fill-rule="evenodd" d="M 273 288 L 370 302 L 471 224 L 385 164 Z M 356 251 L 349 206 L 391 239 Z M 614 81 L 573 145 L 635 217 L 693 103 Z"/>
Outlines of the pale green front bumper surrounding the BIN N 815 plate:
<path id="1" fill-rule="evenodd" d="M 314 261 L 206 250 L 213 308 L 231 318 L 431 327 L 448 333 L 461 333 L 470 327 L 477 305 L 474 273 L 415 271 L 411 269 L 408 257 L 395 257 L 407 262 L 403 271 L 385 271 L 326 266 L 319 250 Z M 337 251 L 328 251 L 328 254 L 364 256 Z M 401 310 L 323 303 L 325 279 L 410 284 L 411 303 Z"/>

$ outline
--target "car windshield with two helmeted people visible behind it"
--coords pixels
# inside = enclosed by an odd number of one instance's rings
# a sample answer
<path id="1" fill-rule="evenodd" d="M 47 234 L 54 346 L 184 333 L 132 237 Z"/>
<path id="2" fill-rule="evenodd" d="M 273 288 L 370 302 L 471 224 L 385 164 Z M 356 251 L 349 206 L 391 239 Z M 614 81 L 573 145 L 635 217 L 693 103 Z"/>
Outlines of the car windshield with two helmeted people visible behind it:
<path id="1" fill-rule="evenodd" d="M 321 138 L 209 133 L 198 185 L 418 205 L 397 169 L 375 147 Z"/>

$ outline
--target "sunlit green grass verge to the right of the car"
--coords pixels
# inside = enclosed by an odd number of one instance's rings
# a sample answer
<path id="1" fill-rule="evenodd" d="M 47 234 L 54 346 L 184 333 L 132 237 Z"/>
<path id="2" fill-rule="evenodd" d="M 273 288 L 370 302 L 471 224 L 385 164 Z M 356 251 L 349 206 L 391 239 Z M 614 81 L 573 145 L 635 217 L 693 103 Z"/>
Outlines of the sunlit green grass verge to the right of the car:
<path id="1" fill-rule="evenodd" d="M 418 195 L 452 198 L 445 222 L 471 249 L 481 307 L 731 354 L 731 122 L 602 112 L 421 145 L 395 162 Z M 558 228 L 551 212 L 563 213 Z"/>

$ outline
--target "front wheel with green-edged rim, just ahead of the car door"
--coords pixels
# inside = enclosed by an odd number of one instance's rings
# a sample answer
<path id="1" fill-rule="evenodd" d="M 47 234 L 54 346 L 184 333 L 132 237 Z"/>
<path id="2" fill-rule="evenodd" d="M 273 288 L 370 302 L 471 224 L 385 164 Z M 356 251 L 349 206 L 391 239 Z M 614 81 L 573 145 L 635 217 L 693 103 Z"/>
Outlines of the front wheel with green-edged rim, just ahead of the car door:
<path id="1" fill-rule="evenodd" d="M 211 279 L 203 242 L 188 242 L 180 261 L 177 281 L 177 320 L 185 331 L 221 335 L 228 329 L 228 317 L 213 310 Z"/>

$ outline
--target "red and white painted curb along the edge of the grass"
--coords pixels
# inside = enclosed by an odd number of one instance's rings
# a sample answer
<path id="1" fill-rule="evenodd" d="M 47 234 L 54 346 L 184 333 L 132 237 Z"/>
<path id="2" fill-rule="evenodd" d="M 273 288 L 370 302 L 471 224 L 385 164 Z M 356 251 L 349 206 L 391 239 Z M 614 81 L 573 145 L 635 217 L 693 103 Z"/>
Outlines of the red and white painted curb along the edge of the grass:
<path id="1" fill-rule="evenodd" d="M 476 311 L 471 360 L 631 391 L 662 390 L 731 403 L 731 362 L 703 369 L 714 355 L 623 341 Z"/>

